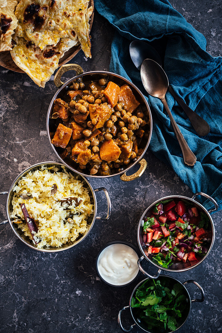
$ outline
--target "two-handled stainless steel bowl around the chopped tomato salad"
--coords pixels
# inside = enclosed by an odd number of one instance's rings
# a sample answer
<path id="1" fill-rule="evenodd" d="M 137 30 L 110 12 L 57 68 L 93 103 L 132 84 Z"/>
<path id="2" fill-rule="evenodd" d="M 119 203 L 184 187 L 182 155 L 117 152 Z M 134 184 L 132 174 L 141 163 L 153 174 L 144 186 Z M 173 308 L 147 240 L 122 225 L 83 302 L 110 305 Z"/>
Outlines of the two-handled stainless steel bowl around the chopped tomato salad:
<path id="1" fill-rule="evenodd" d="M 213 202 L 213 204 L 215 205 L 215 208 L 214 209 L 211 209 L 209 211 L 206 210 L 206 208 L 204 208 L 204 206 L 197 202 L 195 200 L 196 196 L 197 195 L 203 195 L 205 196 L 206 198 L 208 198 L 209 200 L 211 200 Z M 211 225 L 211 231 L 212 231 L 212 239 L 211 239 L 211 243 L 210 243 L 210 247 L 206 253 L 206 255 L 200 260 L 198 261 L 196 264 L 194 265 L 190 265 L 189 263 L 184 263 L 184 262 L 181 262 L 181 263 L 176 263 L 176 264 L 172 264 L 169 268 L 163 268 L 162 266 L 160 265 L 157 265 L 155 262 L 152 261 L 152 255 L 148 253 L 148 250 L 147 250 L 147 247 L 146 245 L 144 244 L 144 241 L 143 241 L 143 227 L 142 227 L 142 222 L 147 214 L 147 212 L 158 202 L 161 202 L 162 200 L 165 200 L 165 199 L 179 199 L 179 200 L 186 200 L 188 202 L 190 202 L 193 206 L 197 207 L 200 211 L 202 211 L 204 214 L 207 215 L 207 217 L 209 218 L 209 221 L 210 221 L 210 225 Z M 195 193 L 192 198 L 189 198 L 189 197 L 186 197 L 186 196 L 183 196 L 183 195 L 169 195 L 169 196 L 165 196 L 163 198 L 160 198 L 158 200 L 156 200 L 155 202 L 153 202 L 143 213 L 143 215 L 141 216 L 140 218 L 140 221 L 139 221 L 139 224 L 138 224 L 138 228 L 137 228 L 137 241 L 138 241 L 138 244 L 139 244 L 139 247 L 140 247 L 140 250 L 143 254 L 142 257 L 139 258 L 138 260 L 138 266 L 139 266 L 139 269 L 140 271 L 149 276 L 150 278 L 152 279 L 156 279 L 158 278 L 158 276 L 160 275 L 160 272 L 161 270 L 165 270 L 165 271 L 168 271 L 168 272 L 184 272 L 184 271 L 187 271 L 189 269 L 192 269 L 194 267 L 197 267 L 199 264 L 201 264 L 205 259 L 206 257 L 208 256 L 208 254 L 210 253 L 212 247 L 213 247 L 213 243 L 214 243 L 214 239 L 215 239 L 215 229 L 214 229 L 214 224 L 213 224 L 213 220 L 210 216 L 210 213 L 214 210 L 217 210 L 218 209 L 218 204 L 217 202 L 211 197 L 209 196 L 208 194 L 205 194 L 203 192 L 197 192 Z M 148 272 L 146 272 L 143 267 L 141 266 L 141 261 L 143 259 L 146 259 L 147 261 L 149 261 L 152 265 L 156 266 L 158 268 L 158 271 L 156 273 L 155 276 L 153 275 L 150 275 Z"/>

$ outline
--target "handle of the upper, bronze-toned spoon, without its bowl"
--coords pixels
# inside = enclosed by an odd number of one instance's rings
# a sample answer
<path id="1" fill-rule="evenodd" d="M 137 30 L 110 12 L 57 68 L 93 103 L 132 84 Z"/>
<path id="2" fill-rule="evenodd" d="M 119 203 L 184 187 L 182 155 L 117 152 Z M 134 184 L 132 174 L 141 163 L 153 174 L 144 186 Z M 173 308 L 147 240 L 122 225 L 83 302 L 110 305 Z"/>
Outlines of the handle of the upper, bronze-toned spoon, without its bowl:
<path id="1" fill-rule="evenodd" d="M 174 132 L 176 133 L 177 140 L 179 141 L 180 147 L 182 149 L 184 163 L 187 164 L 188 166 L 194 166 L 194 164 L 197 161 L 196 156 L 194 155 L 193 152 L 191 152 L 186 140 L 183 137 L 183 134 L 180 132 L 180 129 L 177 126 L 177 124 L 172 116 L 172 113 L 170 112 L 170 109 L 167 105 L 165 98 L 161 98 L 161 101 L 162 101 L 163 105 L 165 106 L 165 109 L 170 117 L 170 121 L 173 126 Z"/>

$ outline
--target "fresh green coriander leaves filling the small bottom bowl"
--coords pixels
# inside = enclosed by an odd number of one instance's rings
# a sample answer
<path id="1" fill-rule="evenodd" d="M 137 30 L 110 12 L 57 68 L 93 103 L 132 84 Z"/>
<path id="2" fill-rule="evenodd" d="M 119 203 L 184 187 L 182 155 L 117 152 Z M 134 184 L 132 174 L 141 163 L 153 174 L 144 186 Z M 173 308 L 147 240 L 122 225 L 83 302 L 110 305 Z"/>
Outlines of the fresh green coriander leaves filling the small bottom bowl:
<path id="1" fill-rule="evenodd" d="M 147 279 L 135 291 L 131 307 L 146 330 L 175 331 L 188 316 L 189 303 L 180 283 L 169 278 Z"/>

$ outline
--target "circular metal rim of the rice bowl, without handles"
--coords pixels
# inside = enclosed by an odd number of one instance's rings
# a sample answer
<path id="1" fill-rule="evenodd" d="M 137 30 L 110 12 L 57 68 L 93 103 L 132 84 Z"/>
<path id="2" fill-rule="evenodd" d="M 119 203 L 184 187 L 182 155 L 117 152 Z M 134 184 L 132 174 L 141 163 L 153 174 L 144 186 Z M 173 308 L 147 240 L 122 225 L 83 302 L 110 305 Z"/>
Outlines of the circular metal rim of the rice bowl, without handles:
<path id="1" fill-rule="evenodd" d="M 86 233 L 80 238 L 78 239 L 76 242 L 74 242 L 73 244 L 67 246 L 66 248 L 56 248 L 55 249 L 47 249 L 47 248 L 37 248 L 36 246 L 33 246 L 32 243 L 31 243 L 31 240 L 30 240 L 30 243 L 28 243 L 27 241 L 25 241 L 19 233 L 16 232 L 14 226 L 13 226 L 13 222 L 11 221 L 11 218 L 10 218 L 10 214 L 9 214 L 9 204 L 10 204 L 10 196 L 11 196 L 11 193 L 12 193 L 12 190 L 14 188 L 14 186 L 16 185 L 17 181 L 23 176 L 25 175 L 27 172 L 29 172 L 31 169 L 33 168 L 36 168 L 36 167 L 40 167 L 40 166 L 44 166 L 44 165 L 54 165 L 54 166 L 64 166 L 62 163 L 59 163 L 59 162 L 53 162 L 53 161 L 46 161 L 46 162 L 39 162 L 39 163 L 36 163 L 32 166 L 29 166 L 27 167 L 25 170 L 23 170 L 12 182 L 12 185 L 10 186 L 9 190 L 8 190 L 8 194 L 7 194 L 7 199 L 6 199 L 6 214 L 7 214 L 7 219 L 8 219 L 8 222 L 10 224 L 10 227 L 12 228 L 12 231 L 14 232 L 14 234 L 24 243 L 26 244 L 27 246 L 31 247 L 32 249 L 34 250 L 37 250 L 37 251 L 41 251 L 41 252 L 61 252 L 61 251 L 65 251 L 65 250 L 68 250 L 70 248 L 72 248 L 73 246 L 79 244 L 88 234 L 89 232 L 91 231 L 92 227 L 93 227 L 93 224 L 95 222 L 95 219 L 96 219 L 96 213 L 97 213 L 97 201 L 96 201 L 96 195 L 95 195 L 95 192 L 94 192 L 94 189 L 92 188 L 92 185 L 90 184 L 90 182 L 84 177 L 81 175 L 81 177 L 84 179 L 84 181 L 87 183 L 87 185 L 89 186 L 90 190 L 91 190 L 91 193 L 92 193 L 92 196 L 93 196 L 93 199 L 94 199 L 94 210 L 93 210 L 93 218 L 92 218 L 92 222 L 90 223 L 90 226 L 89 226 L 89 229 L 86 231 Z M 67 168 L 67 166 L 65 166 Z M 75 172 L 73 170 L 71 170 L 72 172 Z M 78 175 L 78 174 L 77 174 Z"/>

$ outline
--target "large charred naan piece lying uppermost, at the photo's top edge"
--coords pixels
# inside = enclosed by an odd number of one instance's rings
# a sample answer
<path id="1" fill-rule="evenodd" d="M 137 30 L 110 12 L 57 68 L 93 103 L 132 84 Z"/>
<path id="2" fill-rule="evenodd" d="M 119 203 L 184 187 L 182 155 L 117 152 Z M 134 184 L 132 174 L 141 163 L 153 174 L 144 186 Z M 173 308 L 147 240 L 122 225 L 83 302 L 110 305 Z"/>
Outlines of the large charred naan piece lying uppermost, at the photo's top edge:
<path id="1" fill-rule="evenodd" d="M 19 21 L 16 36 L 41 50 L 46 45 L 56 46 L 61 38 L 78 39 L 86 57 L 91 58 L 87 7 L 87 0 L 21 0 L 15 11 Z"/>

